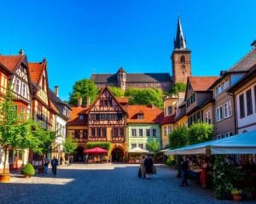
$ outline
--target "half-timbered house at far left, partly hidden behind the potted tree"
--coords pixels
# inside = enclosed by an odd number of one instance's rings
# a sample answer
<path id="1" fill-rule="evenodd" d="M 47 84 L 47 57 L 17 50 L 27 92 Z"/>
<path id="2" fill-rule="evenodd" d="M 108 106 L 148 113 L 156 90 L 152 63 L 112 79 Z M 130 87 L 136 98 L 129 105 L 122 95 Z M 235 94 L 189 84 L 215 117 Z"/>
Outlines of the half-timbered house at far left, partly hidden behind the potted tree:
<path id="1" fill-rule="evenodd" d="M 20 119 L 26 119 L 31 114 L 30 76 L 26 55 L 20 50 L 18 55 L 0 55 L 0 62 L 9 70 L 9 82 L 14 98 L 15 109 Z M 1 92 L 6 93 L 8 78 L 1 74 Z M 18 169 L 28 158 L 28 150 L 9 150 L 9 169 Z"/>

